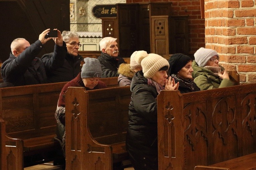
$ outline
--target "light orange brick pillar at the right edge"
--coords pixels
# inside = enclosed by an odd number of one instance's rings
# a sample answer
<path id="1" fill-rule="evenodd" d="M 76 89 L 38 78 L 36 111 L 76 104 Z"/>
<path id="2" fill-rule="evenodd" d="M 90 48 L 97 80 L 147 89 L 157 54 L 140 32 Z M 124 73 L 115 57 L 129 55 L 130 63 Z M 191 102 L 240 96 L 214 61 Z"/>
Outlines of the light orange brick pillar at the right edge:
<path id="1" fill-rule="evenodd" d="M 205 47 L 241 83 L 256 82 L 256 0 L 205 0 Z"/>

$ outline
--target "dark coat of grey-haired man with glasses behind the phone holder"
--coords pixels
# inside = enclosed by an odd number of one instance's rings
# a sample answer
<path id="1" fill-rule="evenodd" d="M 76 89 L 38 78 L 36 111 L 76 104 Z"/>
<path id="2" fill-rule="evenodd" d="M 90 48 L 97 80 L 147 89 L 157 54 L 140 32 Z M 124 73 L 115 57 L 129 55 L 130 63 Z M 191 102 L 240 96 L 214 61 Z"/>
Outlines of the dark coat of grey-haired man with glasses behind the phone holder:
<path id="1" fill-rule="evenodd" d="M 43 62 L 52 58 L 53 52 L 42 56 Z M 65 54 L 65 60 L 55 70 L 46 70 L 47 78 L 50 82 L 63 82 L 74 79 L 79 72 L 81 72 L 81 61 L 83 57 L 81 55 L 72 56 L 69 53 Z"/>

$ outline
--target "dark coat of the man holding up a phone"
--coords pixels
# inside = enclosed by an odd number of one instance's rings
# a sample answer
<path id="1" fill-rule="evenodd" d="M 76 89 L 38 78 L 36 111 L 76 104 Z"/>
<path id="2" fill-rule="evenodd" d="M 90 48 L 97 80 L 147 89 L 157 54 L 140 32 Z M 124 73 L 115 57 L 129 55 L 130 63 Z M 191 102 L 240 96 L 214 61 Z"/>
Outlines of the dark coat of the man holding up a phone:
<path id="1" fill-rule="evenodd" d="M 55 55 L 45 62 L 36 57 L 43 45 L 40 40 L 31 44 L 17 57 L 10 53 L 10 57 L 1 67 L 4 82 L 12 83 L 13 86 L 48 83 L 46 70 L 56 69 L 59 66 L 58 63 L 64 60 L 64 54 L 67 52 L 64 44 L 63 46 L 55 44 Z"/>

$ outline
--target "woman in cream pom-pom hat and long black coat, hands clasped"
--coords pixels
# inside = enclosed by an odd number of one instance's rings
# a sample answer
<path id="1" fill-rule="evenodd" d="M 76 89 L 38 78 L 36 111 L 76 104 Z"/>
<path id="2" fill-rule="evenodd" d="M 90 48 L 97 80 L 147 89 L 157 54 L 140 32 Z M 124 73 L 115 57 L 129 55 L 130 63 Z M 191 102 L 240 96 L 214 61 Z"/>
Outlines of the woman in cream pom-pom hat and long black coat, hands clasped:
<path id="1" fill-rule="evenodd" d="M 135 170 L 157 170 L 155 99 L 161 90 L 178 90 L 179 83 L 168 78 L 169 62 L 162 56 L 137 52 L 135 61 L 141 64 L 142 70 L 135 73 L 131 82 L 126 149 Z"/>

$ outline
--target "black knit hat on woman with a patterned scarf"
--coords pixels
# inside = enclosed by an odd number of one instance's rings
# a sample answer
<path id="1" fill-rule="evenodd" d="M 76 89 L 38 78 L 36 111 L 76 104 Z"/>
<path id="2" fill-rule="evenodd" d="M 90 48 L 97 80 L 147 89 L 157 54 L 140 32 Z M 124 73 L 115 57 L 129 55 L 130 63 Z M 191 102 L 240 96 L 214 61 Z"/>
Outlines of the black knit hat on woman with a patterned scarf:
<path id="1" fill-rule="evenodd" d="M 170 64 L 169 74 L 177 74 L 190 60 L 192 59 L 187 55 L 181 53 L 173 54 L 168 61 Z"/>

